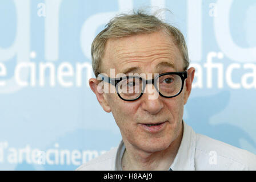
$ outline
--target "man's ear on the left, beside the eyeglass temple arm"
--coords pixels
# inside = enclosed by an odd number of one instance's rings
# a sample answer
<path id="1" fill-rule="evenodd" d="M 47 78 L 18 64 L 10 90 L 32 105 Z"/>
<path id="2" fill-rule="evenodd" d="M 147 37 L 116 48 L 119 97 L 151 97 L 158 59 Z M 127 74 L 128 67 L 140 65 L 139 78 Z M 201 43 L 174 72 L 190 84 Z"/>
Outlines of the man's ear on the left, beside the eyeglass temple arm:
<path id="1" fill-rule="evenodd" d="M 90 78 L 89 80 L 90 88 L 95 93 L 99 104 L 101 104 L 103 110 L 105 110 L 107 113 L 110 113 L 111 109 L 109 104 L 107 104 L 106 94 L 104 92 L 103 84 L 101 83 L 102 82 L 99 82 L 99 80 L 96 78 Z"/>

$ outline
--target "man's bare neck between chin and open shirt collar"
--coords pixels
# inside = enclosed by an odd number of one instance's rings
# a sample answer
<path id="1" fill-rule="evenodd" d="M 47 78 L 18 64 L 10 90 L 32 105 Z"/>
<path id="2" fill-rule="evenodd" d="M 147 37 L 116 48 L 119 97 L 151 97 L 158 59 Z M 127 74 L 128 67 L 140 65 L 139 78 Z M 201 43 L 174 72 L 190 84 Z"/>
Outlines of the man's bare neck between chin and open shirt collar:
<path id="1" fill-rule="evenodd" d="M 123 170 L 168 170 L 178 152 L 182 140 L 182 135 L 183 129 L 179 133 L 178 137 L 174 139 L 173 142 L 171 142 L 169 147 L 167 147 L 165 150 L 157 152 L 135 150 L 133 146 L 129 146 L 128 144 L 122 158 Z"/>

